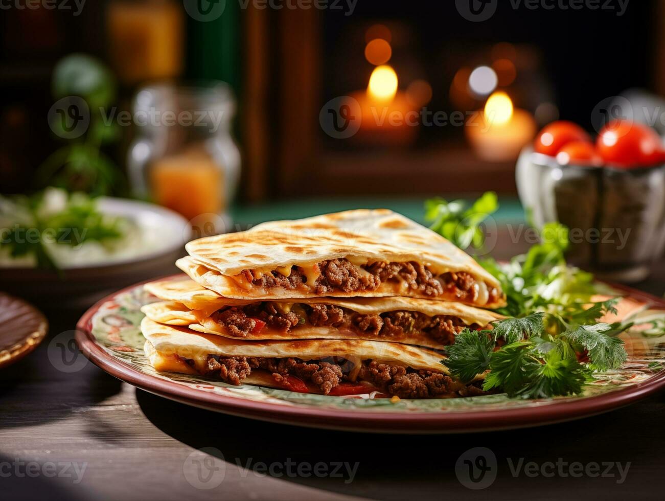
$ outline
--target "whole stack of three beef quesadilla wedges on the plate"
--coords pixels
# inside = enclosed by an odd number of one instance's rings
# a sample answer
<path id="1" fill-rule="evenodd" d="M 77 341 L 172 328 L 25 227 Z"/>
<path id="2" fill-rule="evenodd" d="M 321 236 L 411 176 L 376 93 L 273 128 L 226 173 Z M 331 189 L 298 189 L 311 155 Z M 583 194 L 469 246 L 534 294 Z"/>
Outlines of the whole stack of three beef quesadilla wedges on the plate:
<path id="1" fill-rule="evenodd" d="M 442 350 L 499 319 L 499 283 L 438 234 L 388 210 L 261 224 L 190 242 L 190 279 L 146 289 L 158 371 L 303 393 L 402 398 L 480 393 Z M 479 376 L 480 377 L 480 376 Z"/>

